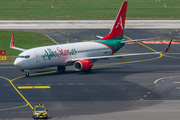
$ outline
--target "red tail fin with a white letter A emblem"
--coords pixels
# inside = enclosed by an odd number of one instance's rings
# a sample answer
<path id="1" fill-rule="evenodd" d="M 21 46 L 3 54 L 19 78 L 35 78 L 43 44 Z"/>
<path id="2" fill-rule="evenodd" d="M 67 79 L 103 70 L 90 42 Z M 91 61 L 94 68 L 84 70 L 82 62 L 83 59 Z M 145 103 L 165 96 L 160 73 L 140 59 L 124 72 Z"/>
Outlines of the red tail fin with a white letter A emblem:
<path id="1" fill-rule="evenodd" d="M 127 3 L 128 3 L 127 1 L 123 2 L 111 32 L 108 35 L 106 35 L 105 37 L 103 37 L 101 40 L 122 39 L 123 38 Z"/>

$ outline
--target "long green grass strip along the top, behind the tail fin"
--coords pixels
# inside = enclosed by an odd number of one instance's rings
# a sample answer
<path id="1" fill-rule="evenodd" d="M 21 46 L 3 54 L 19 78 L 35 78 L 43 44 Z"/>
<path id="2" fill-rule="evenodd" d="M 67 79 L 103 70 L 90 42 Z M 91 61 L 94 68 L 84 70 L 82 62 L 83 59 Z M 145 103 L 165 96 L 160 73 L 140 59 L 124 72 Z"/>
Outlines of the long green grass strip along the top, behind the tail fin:
<path id="1" fill-rule="evenodd" d="M 0 20 L 114 20 L 124 0 L 0 0 Z M 180 0 L 128 0 L 127 19 L 180 19 Z"/>

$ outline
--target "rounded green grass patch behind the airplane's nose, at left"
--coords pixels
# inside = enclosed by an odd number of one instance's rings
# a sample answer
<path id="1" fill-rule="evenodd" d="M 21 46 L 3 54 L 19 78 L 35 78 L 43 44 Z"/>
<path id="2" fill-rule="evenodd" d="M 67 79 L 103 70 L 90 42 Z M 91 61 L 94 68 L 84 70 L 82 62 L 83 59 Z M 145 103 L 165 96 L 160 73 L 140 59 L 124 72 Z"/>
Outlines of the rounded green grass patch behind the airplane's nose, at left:
<path id="1" fill-rule="evenodd" d="M 50 38 L 41 33 L 0 30 L 0 50 L 6 50 L 5 56 L 17 56 L 22 52 L 10 48 L 12 34 L 14 34 L 14 44 L 19 48 L 30 49 L 40 46 L 55 45 Z M 0 60 L 0 63 L 13 62 L 15 58 L 16 57 L 8 57 L 7 60 Z"/>

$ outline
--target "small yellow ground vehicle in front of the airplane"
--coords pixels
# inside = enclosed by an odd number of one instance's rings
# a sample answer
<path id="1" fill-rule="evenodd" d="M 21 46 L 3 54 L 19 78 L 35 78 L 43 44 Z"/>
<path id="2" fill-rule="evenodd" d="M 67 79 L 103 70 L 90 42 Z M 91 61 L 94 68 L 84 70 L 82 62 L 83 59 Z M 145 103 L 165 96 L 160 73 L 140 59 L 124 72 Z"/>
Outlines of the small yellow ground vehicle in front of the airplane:
<path id="1" fill-rule="evenodd" d="M 47 114 L 48 109 L 44 107 L 44 104 L 35 104 L 34 110 L 33 110 L 33 118 L 48 118 Z"/>

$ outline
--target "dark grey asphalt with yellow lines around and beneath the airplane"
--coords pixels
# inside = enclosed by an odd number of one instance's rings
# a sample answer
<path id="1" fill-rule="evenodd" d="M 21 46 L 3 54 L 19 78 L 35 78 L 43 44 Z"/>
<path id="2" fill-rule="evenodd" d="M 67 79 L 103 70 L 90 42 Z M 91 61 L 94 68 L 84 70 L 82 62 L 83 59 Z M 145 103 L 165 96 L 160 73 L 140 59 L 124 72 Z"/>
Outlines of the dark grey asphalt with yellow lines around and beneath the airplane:
<path id="1" fill-rule="evenodd" d="M 59 44 L 98 39 L 109 29 L 26 30 L 47 34 Z M 178 29 L 126 29 L 125 38 L 174 38 Z M 163 51 L 164 44 L 128 44 L 120 53 Z M 0 120 L 30 120 L 35 103 L 45 103 L 52 120 L 178 120 L 180 115 L 180 45 L 168 53 L 110 59 L 94 64 L 90 74 L 68 67 L 30 71 L 29 78 L 12 64 L 0 65 Z M 50 86 L 18 89 L 19 86 Z"/>

